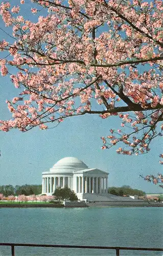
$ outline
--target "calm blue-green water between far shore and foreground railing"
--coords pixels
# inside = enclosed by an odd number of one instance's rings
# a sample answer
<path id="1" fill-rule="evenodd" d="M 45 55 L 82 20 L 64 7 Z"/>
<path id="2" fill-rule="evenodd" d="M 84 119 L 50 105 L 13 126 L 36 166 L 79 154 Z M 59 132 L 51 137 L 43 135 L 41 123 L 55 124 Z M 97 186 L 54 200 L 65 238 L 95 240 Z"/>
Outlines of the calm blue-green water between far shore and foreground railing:
<path id="1" fill-rule="evenodd" d="M 162 208 L 0 208 L 0 242 L 91 246 L 162 247 Z M 115 255 L 94 249 L 15 247 L 15 254 Z M 0 246 L 0 255 L 11 248 Z M 120 251 L 120 255 L 163 255 Z"/>

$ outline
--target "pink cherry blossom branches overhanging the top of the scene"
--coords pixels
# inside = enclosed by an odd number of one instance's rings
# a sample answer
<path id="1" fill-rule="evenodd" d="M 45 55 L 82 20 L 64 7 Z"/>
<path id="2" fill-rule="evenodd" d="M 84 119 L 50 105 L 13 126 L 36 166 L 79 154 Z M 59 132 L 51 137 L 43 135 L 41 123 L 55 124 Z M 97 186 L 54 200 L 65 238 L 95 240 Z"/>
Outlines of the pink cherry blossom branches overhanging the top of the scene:
<path id="1" fill-rule="evenodd" d="M 40 16 L 39 6 L 46 10 Z M 98 115 L 109 125 L 102 149 L 148 153 L 163 131 L 162 1 L 32 0 L 34 20 L 19 10 L 0 5 L 12 31 L 0 42 L 1 74 L 18 89 L 6 101 L 11 118 L 0 120 L 0 130 L 46 130 Z"/>

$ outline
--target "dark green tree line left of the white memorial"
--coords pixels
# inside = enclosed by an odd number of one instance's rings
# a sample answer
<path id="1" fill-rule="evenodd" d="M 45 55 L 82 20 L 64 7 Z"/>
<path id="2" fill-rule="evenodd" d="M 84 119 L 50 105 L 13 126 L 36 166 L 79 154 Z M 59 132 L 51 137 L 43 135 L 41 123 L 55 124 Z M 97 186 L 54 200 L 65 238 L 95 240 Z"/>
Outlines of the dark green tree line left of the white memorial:
<path id="1" fill-rule="evenodd" d="M 39 195 L 41 194 L 42 186 L 41 185 L 2 185 L 0 186 L 0 194 L 3 194 L 5 197 L 14 195 Z"/>

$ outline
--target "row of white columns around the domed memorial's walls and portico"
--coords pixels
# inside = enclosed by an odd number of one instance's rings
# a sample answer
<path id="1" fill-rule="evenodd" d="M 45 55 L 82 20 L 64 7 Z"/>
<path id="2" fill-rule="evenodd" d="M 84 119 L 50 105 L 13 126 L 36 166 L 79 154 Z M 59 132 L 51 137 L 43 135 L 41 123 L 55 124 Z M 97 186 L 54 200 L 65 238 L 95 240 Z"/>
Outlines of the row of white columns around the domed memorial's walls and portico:
<path id="1" fill-rule="evenodd" d="M 71 188 L 73 179 L 73 190 L 75 193 L 107 193 L 107 177 L 43 177 L 42 194 L 52 194 L 56 188 L 68 186 Z"/>

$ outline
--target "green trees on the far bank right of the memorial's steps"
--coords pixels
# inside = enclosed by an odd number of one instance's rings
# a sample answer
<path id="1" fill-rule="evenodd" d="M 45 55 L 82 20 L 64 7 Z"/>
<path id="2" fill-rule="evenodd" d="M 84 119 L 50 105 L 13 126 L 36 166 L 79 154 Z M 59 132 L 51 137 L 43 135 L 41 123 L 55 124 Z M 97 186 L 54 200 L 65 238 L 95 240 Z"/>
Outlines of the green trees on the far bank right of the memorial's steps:
<path id="1" fill-rule="evenodd" d="M 109 187 L 108 193 L 115 196 L 145 196 L 145 192 L 139 189 L 131 188 L 130 186 L 124 185 L 122 187 Z"/>

